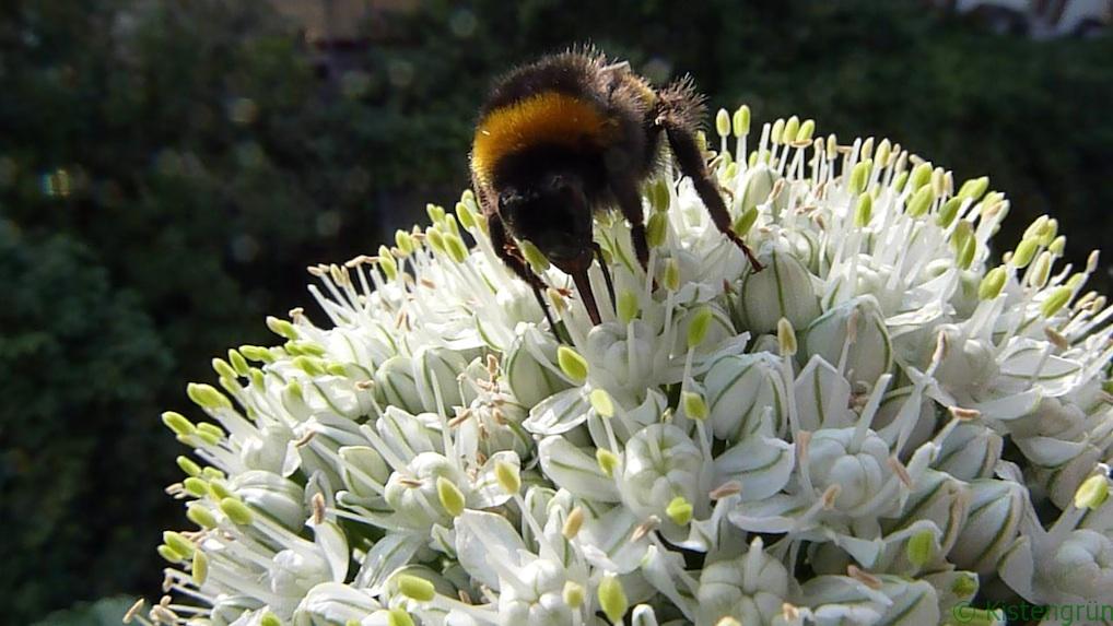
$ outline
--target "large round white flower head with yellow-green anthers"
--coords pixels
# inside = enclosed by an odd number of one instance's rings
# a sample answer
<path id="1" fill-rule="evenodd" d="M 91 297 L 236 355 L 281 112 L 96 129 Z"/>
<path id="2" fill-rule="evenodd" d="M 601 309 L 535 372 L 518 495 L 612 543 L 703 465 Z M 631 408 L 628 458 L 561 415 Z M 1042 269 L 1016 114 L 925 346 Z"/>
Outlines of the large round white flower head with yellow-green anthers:
<path id="1" fill-rule="evenodd" d="M 327 324 L 191 385 L 166 624 L 936 624 L 972 600 L 1113 604 L 1113 307 L 1036 220 L 888 140 L 792 117 L 712 161 L 750 269 L 688 180 L 646 190 L 650 276 L 597 220 L 603 322 L 559 327 L 455 215 L 311 268 Z M 731 137 L 732 136 L 732 137 Z M 475 245 L 465 244 L 465 233 Z M 173 597 L 171 597 L 173 596 Z M 975 602 L 975 605 L 976 605 Z M 985 606 L 985 605 L 982 605 Z M 998 623 L 991 610 L 967 623 Z"/>

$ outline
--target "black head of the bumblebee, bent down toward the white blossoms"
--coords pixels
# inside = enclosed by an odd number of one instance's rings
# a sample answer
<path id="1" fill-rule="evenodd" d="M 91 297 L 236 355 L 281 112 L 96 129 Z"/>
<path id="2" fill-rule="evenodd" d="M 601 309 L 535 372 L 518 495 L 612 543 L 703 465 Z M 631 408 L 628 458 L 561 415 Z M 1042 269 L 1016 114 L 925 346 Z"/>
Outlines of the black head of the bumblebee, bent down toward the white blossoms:
<path id="1" fill-rule="evenodd" d="M 591 265 L 591 212 L 583 179 L 577 173 L 545 173 L 499 195 L 499 213 L 511 232 L 528 239 L 569 274 Z"/>

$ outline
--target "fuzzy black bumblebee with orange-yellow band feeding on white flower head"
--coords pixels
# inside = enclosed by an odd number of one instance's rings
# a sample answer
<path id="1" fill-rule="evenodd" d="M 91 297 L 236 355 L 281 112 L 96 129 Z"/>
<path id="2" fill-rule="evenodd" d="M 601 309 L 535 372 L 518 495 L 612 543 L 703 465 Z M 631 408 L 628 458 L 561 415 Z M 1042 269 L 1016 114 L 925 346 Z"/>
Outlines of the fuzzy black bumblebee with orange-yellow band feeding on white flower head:
<path id="1" fill-rule="evenodd" d="M 703 97 L 690 79 L 654 89 L 629 63 L 610 62 L 592 50 L 546 56 L 495 82 L 475 129 L 472 183 L 495 252 L 533 288 L 554 330 L 541 295 L 545 285 L 515 240 L 530 241 L 572 277 L 598 325 L 588 278 L 595 258 L 611 302 L 614 288 L 593 240 L 593 213 L 615 208 L 622 212 L 638 260 L 648 270 L 640 187 L 667 163 L 664 140 L 716 227 L 760 269 L 730 229 L 719 185 L 703 160 L 697 141 L 703 117 Z"/>

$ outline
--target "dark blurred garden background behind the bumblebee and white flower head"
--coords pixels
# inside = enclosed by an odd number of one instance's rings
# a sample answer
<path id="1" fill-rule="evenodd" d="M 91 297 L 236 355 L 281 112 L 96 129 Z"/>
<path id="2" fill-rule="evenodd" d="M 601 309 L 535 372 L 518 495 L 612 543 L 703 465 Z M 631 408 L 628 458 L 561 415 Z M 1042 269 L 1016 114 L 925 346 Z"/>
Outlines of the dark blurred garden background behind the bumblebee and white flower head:
<path id="1" fill-rule="evenodd" d="M 1111 7 L 6 0 L 0 620 L 109 624 L 127 602 L 81 603 L 158 597 L 160 531 L 185 524 L 159 413 L 311 305 L 306 265 L 451 206 L 510 66 L 590 40 L 691 73 L 712 110 L 894 138 L 1012 198 L 998 254 L 1047 212 L 1084 262 L 1113 254 Z"/>

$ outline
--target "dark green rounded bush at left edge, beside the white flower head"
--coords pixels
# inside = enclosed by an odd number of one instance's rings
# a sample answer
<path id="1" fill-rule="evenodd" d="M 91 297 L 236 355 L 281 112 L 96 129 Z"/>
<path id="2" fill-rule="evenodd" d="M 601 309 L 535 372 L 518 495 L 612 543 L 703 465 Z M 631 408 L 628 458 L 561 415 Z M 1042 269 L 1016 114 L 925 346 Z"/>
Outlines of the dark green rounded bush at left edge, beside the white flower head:
<path id="1" fill-rule="evenodd" d="M 27 623 L 149 574 L 170 358 L 136 295 L 67 236 L 0 220 L 0 603 Z"/>

